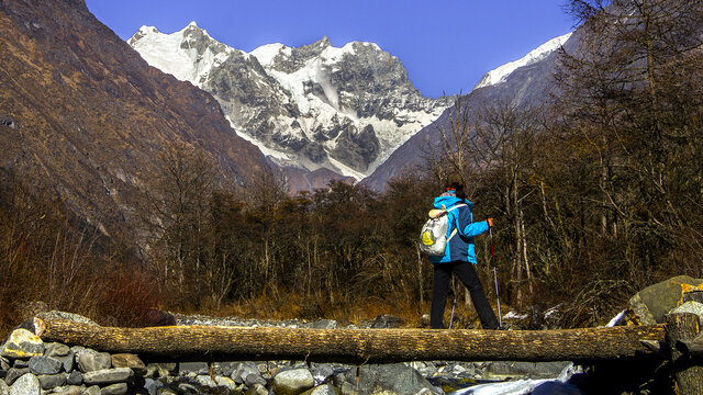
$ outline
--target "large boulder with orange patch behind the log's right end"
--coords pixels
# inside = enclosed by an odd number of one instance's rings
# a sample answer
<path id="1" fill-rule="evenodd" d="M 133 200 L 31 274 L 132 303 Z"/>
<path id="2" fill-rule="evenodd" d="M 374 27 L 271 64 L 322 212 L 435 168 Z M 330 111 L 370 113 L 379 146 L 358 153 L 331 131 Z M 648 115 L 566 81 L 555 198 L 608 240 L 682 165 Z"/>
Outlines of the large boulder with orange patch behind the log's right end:
<path id="1" fill-rule="evenodd" d="M 632 309 L 643 325 L 662 324 L 663 317 L 679 306 L 684 293 L 701 290 L 703 280 L 679 275 L 650 285 L 629 300 Z"/>

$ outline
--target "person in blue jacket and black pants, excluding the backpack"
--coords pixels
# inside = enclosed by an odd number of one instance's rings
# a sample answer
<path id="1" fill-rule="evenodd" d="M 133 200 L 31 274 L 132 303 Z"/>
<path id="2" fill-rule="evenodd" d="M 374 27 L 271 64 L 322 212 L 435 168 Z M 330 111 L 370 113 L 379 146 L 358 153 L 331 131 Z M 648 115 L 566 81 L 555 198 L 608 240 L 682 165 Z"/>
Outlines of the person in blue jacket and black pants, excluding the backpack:
<path id="1" fill-rule="evenodd" d="M 471 208 L 473 203 L 466 200 L 464 182 L 458 173 L 449 174 L 445 184 L 445 192 L 435 198 L 435 208 L 451 208 L 451 206 L 465 204 L 447 213 L 449 215 L 449 228 L 447 237 L 454 232 L 456 234 L 449 239 L 443 256 L 431 256 L 429 261 L 434 266 L 434 285 L 432 290 L 432 308 L 429 311 L 429 327 L 443 329 L 444 307 L 447 301 L 447 291 L 451 273 L 455 273 L 464 285 L 469 290 L 476 312 L 481 319 L 483 329 L 499 329 L 495 314 L 488 303 L 483 286 L 476 272 L 477 264 L 473 237 L 478 236 L 493 226 L 493 218 L 482 222 L 473 222 Z M 443 207 L 444 206 L 444 207 Z M 458 225 L 458 227 L 457 227 Z"/>

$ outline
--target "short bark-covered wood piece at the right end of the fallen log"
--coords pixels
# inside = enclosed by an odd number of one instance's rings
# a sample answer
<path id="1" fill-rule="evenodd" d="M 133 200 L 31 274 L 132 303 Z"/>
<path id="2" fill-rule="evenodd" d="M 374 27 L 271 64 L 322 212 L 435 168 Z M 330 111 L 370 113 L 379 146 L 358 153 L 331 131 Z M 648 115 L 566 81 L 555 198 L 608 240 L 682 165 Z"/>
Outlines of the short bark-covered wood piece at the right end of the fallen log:
<path id="1" fill-rule="evenodd" d="M 691 341 L 699 334 L 699 316 L 691 313 L 670 314 L 667 317 L 667 342 L 671 345 L 671 365 L 680 395 L 703 394 L 703 365 L 677 349 L 680 341 Z"/>

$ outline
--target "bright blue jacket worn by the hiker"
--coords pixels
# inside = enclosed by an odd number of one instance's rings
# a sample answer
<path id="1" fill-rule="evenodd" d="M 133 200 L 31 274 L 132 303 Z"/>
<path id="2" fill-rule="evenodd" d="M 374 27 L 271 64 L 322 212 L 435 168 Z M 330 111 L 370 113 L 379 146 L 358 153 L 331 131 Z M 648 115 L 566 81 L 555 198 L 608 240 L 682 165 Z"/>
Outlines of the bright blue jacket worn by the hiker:
<path id="1" fill-rule="evenodd" d="M 455 228 L 458 232 L 451 240 L 447 244 L 447 248 L 442 257 L 429 257 L 429 261 L 433 263 L 445 263 L 451 261 L 464 261 L 476 264 L 476 253 L 473 251 L 473 237 L 488 230 L 488 223 L 486 221 L 475 223 L 471 208 L 473 203 L 469 201 L 462 201 L 453 195 L 443 195 L 435 198 L 435 208 L 442 208 L 444 205 L 450 208 L 453 205 L 464 203 L 466 206 L 453 210 L 447 213 L 449 216 L 449 228 L 447 229 L 447 237 L 451 235 Z"/>

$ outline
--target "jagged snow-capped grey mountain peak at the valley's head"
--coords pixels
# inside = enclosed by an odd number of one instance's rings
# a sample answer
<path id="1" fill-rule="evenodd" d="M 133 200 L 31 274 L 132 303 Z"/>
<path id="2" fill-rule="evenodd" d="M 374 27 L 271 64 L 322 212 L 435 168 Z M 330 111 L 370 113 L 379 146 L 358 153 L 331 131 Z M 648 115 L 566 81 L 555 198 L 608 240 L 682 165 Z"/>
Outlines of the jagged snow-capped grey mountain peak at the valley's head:
<path id="1" fill-rule="evenodd" d="M 401 61 L 372 43 L 337 48 L 323 37 L 245 53 L 192 22 L 172 34 L 143 26 L 129 44 L 212 93 L 234 128 L 282 167 L 360 179 L 449 104 L 423 97 Z"/>

